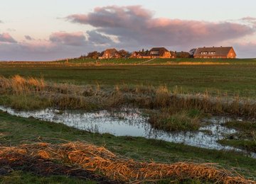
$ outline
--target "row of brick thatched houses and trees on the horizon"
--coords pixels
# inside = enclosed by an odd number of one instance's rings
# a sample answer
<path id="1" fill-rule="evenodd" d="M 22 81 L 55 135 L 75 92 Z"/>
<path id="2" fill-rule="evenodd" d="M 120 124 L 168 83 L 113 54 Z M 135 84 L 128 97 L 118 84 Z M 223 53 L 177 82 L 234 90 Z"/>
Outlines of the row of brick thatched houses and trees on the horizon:
<path id="1" fill-rule="evenodd" d="M 199 47 L 191 49 L 189 52 L 174 52 L 166 50 L 165 47 L 153 47 L 151 50 L 139 50 L 128 52 L 126 50 L 107 49 L 103 52 L 89 52 L 83 55 L 84 58 L 92 59 L 114 59 L 114 58 L 216 58 L 216 59 L 235 59 L 236 54 L 233 47 Z"/>

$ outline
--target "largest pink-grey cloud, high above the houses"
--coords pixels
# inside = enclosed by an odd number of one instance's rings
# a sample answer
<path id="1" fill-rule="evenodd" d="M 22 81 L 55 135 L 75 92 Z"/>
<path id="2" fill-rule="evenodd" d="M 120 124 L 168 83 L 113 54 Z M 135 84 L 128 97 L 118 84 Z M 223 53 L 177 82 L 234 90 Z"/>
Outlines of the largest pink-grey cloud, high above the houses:
<path id="1" fill-rule="evenodd" d="M 214 45 L 255 33 L 249 25 L 240 23 L 154 18 L 153 13 L 142 6 L 97 7 L 91 13 L 74 14 L 66 19 L 92 25 L 97 33 L 117 36 L 127 45 L 129 42 L 169 47 Z"/>

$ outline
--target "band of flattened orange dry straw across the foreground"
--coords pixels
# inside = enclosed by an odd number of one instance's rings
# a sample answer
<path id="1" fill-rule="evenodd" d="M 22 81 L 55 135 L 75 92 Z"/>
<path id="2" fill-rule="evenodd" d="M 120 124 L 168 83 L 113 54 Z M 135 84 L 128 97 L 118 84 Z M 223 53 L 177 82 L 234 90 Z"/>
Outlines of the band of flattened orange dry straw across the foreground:
<path id="1" fill-rule="evenodd" d="M 102 173 L 105 177 L 119 182 L 156 182 L 196 179 L 213 183 L 255 183 L 237 173 L 218 168 L 213 163 L 155 163 L 124 159 L 104 147 L 81 142 L 68 144 L 23 144 L 16 147 L 1 147 L 1 159 L 15 162 L 23 156 L 31 159 L 46 159 L 58 163 L 78 166 L 86 171 Z"/>

